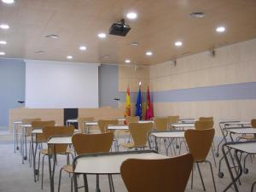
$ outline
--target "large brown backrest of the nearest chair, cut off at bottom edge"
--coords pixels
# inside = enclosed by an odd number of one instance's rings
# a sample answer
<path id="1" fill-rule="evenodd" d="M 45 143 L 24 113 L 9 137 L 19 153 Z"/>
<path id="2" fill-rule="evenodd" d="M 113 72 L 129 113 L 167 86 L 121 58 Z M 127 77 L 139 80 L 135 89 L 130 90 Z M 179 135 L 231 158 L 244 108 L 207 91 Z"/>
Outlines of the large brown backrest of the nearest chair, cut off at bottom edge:
<path id="1" fill-rule="evenodd" d="M 191 154 L 161 160 L 125 160 L 121 176 L 129 192 L 184 192 L 193 166 Z"/>

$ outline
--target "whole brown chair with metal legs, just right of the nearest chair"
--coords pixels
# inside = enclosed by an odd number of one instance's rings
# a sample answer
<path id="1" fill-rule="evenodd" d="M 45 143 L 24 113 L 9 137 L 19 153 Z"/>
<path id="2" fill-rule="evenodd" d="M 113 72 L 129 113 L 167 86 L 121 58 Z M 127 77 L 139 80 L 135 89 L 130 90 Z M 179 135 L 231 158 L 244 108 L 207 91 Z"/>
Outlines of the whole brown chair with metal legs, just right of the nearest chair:
<path id="1" fill-rule="evenodd" d="M 206 188 L 205 188 L 203 178 L 201 176 L 199 163 L 202 163 L 202 162 L 208 163 L 210 165 L 210 169 L 212 172 L 212 164 L 210 161 L 207 160 L 207 154 L 209 153 L 209 150 L 211 148 L 214 134 L 215 134 L 214 129 L 208 129 L 203 131 L 199 131 L 199 130 L 185 131 L 186 143 L 188 144 L 189 151 L 194 158 L 194 163 L 198 168 L 198 172 L 201 177 L 201 183 L 204 190 L 206 190 Z M 213 182 L 214 190 L 216 192 L 217 190 L 216 190 L 213 172 L 212 172 L 212 182 Z M 192 188 L 193 188 L 193 170 L 191 175 L 191 189 Z"/>

